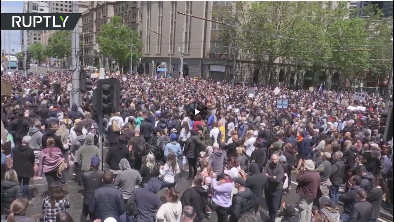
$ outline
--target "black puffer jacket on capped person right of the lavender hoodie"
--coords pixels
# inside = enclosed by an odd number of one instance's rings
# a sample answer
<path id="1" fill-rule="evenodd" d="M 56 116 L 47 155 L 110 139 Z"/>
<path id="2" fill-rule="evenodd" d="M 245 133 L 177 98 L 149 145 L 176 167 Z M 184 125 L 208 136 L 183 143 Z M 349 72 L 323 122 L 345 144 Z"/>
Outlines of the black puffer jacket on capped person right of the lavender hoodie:
<path id="1" fill-rule="evenodd" d="M 245 188 L 244 191 L 238 192 L 232 196 L 230 222 L 237 222 L 244 213 L 252 209 L 252 196 L 253 193 L 249 188 Z"/>

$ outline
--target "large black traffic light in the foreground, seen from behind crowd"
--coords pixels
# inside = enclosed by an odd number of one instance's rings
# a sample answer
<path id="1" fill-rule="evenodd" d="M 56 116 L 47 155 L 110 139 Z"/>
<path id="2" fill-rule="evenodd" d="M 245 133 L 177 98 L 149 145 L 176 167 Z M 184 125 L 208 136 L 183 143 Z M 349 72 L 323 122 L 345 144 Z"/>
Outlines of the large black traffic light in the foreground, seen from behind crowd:
<path id="1" fill-rule="evenodd" d="M 110 114 L 119 111 L 121 97 L 119 79 L 99 79 L 95 91 L 97 113 Z"/>

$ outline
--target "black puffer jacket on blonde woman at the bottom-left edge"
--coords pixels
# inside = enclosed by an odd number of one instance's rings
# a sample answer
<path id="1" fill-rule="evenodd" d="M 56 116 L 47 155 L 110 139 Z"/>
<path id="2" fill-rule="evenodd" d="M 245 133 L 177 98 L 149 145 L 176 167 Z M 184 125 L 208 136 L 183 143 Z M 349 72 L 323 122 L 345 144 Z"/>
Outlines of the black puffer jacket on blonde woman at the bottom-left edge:
<path id="1" fill-rule="evenodd" d="M 23 190 L 19 182 L 2 181 L 1 182 L 1 203 L 2 213 L 10 214 L 11 203 L 17 198 L 22 198 Z"/>

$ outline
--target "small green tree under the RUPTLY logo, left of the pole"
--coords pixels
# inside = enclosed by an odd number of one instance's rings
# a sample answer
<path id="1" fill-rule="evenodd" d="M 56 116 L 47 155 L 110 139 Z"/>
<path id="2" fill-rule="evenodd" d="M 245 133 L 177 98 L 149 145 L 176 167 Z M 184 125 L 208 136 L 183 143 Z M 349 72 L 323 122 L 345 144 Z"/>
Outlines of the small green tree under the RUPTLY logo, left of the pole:
<path id="1" fill-rule="evenodd" d="M 46 55 L 57 58 L 71 56 L 71 31 L 58 31 L 52 34 L 48 40 Z"/>

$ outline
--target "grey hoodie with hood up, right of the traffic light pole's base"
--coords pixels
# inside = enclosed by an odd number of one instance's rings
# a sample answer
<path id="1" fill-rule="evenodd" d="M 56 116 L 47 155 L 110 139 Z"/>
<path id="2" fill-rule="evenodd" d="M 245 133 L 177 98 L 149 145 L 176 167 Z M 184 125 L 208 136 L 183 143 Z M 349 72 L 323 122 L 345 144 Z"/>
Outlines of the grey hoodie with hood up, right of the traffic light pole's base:
<path id="1" fill-rule="evenodd" d="M 123 199 L 128 199 L 136 189 L 136 185 L 141 182 L 142 177 L 137 170 L 131 169 L 125 158 L 119 162 L 119 168 L 122 172 L 117 175 L 113 185 L 122 192 Z"/>

